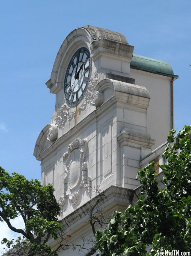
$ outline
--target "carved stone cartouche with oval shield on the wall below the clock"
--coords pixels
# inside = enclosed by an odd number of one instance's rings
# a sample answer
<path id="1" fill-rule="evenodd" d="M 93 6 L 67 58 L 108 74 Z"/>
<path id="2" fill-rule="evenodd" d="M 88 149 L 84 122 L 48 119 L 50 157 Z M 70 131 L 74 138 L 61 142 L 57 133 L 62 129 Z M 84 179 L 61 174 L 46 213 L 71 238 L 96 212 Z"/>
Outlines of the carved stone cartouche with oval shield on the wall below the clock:
<path id="1" fill-rule="evenodd" d="M 63 154 L 64 171 L 64 194 L 60 197 L 60 204 L 63 206 L 66 197 L 69 197 L 72 205 L 77 204 L 81 194 L 81 188 L 88 190 L 91 195 L 91 178 L 87 177 L 86 163 L 87 141 L 85 139 L 75 139 L 69 147 L 68 152 Z"/>

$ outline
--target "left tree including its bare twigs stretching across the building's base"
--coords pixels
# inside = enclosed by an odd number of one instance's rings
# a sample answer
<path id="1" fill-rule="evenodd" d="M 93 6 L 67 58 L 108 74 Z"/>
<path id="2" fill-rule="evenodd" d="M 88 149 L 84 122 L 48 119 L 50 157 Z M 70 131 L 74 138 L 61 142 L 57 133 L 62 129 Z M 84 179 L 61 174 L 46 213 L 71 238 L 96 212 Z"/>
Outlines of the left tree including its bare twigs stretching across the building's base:
<path id="1" fill-rule="evenodd" d="M 94 199 L 93 207 L 87 212 L 93 234 L 96 232 L 97 223 L 103 227 L 109 220 L 99 207 L 106 195 L 98 188 L 94 190 L 98 196 Z M 39 180 L 29 181 L 18 173 L 10 175 L 0 167 L 0 221 L 4 220 L 12 231 L 22 235 L 22 238 L 18 237 L 16 241 L 3 239 L 2 244 L 7 247 L 5 256 L 56 256 L 59 250 L 75 250 L 77 247 L 86 251 L 87 256 L 95 253 L 94 237 L 88 240 L 82 238 L 81 244 L 69 243 L 71 234 L 63 230 L 57 219 L 59 215 L 60 205 L 54 197 L 52 185 L 42 186 Z M 11 220 L 18 216 L 22 217 L 24 228 L 15 228 L 12 225 Z M 48 244 L 51 238 L 58 241 L 54 250 Z"/>

